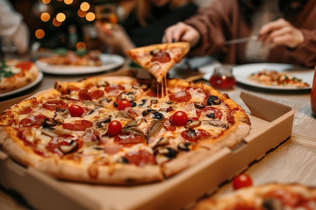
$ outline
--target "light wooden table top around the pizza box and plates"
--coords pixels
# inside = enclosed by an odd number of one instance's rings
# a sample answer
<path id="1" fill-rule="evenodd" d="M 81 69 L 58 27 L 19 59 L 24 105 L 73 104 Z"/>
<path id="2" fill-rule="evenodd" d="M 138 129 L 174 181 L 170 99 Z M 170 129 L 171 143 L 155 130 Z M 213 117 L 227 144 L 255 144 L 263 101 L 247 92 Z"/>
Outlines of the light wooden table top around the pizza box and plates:
<path id="1" fill-rule="evenodd" d="M 116 69 L 126 69 L 126 65 Z M 198 73 L 177 69 L 172 72 L 179 78 L 198 79 Z M 91 75 L 89 75 L 91 76 Z M 92 75 L 94 76 L 94 75 Z M 9 100 L 17 96 L 36 93 L 47 88 L 54 87 L 55 81 L 77 81 L 88 76 L 56 76 L 44 74 L 43 80 L 35 87 L 0 100 Z M 237 84 L 234 89 L 221 91 L 227 93 L 237 103 L 242 103 L 240 92 L 248 92 L 262 98 L 266 98 L 295 110 L 292 136 L 278 148 L 267 154 L 260 161 L 252 164 L 245 171 L 253 179 L 254 185 L 269 182 L 302 183 L 316 186 L 316 118 L 310 108 L 310 90 L 276 91 L 271 89 L 259 89 L 242 84 Z M 280 130 L 280 132 L 282 132 Z M 231 191 L 231 183 L 223 185 L 217 193 Z M 25 203 L 21 203 L 18 196 L 11 194 L 0 186 L 0 209 L 32 209 Z"/>

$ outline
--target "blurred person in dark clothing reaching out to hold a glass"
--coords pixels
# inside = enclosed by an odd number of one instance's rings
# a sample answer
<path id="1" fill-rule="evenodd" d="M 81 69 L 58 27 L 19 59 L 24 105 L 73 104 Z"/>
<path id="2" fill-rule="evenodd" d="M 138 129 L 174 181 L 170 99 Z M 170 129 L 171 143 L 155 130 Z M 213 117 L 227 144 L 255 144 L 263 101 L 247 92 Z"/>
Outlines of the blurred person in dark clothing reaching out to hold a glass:
<path id="1" fill-rule="evenodd" d="M 136 0 L 135 3 L 128 17 L 114 29 L 95 22 L 98 38 L 111 53 L 126 55 L 129 49 L 161 43 L 168 26 L 184 21 L 197 11 L 197 5 L 190 0 Z"/>

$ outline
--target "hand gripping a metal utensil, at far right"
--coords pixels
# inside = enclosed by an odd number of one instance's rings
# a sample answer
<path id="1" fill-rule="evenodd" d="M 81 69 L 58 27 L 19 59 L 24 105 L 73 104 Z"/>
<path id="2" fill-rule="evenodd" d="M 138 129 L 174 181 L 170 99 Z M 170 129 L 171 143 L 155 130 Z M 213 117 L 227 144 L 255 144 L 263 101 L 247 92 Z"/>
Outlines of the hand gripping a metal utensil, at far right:
<path id="1" fill-rule="evenodd" d="M 280 18 L 261 27 L 259 40 L 262 41 L 263 46 L 271 44 L 271 47 L 287 46 L 295 48 L 304 41 L 304 36 L 299 29 Z"/>

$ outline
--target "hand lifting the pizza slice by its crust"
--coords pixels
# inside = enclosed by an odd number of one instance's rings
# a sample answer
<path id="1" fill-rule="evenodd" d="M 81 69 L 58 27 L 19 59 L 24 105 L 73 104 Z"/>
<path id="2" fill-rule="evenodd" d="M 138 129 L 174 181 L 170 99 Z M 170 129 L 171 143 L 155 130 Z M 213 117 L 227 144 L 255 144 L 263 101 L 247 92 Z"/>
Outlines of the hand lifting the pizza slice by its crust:
<path id="1" fill-rule="evenodd" d="M 194 47 L 200 40 L 201 35 L 192 26 L 179 22 L 175 25 L 168 27 L 165 30 L 163 42 L 177 42 L 186 41 L 189 42 L 191 47 Z"/>

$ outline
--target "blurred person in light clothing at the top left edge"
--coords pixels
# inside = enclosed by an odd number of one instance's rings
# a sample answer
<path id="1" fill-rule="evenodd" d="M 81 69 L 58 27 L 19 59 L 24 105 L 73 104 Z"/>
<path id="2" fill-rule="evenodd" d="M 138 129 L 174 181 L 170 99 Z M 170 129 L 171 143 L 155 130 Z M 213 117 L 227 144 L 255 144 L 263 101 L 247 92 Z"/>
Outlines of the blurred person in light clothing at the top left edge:
<path id="1" fill-rule="evenodd" d="M 23 16 L 7 0 L 0 0 L 0 36 L 3 42 L 4 39 L 9 39 L 7 41 L 12 42 L 20 55 L 29 49 L 29 28 L 24 23 Z"/>

